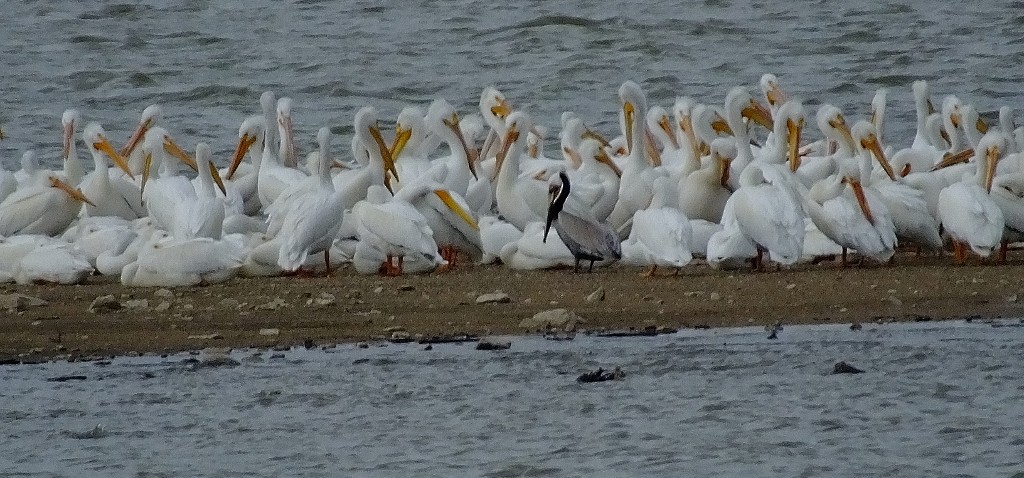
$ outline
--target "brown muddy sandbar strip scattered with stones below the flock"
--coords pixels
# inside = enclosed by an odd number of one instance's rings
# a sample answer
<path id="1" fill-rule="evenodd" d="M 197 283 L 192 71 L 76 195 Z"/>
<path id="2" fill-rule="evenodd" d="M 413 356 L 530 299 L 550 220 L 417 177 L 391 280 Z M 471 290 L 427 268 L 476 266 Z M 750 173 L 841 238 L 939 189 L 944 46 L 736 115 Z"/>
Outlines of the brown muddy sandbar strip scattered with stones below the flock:
<path id="1" fill-rule="evenodd" d="M 1024 315 L 1024 258 L 953 267 L 949 258 L 900 256 L 897 265 L 718 271 L 690 266 L 644 277 L 613 266 L 592 274 L 460 265 L 429 275 L 236 278 L 197 288 L 130 289 L 104 277 L 82 286 L 0 287 L 47 301 L 0 311 L 5 362 L 171 353 L 207 347 L 323 346 L 410 339 L 538 333 L 535 313 L 566 308 L 584 331 L 782 323 L 952 319 Z M 587 296 L 603 289 L 604 300 Z M 477 304 L 501 291 L 508 303 Z M 121 310 L 90 312 L 113 295 Z M 144 301 L 143 301 L 144 300 Z M 275 330 L 275 331 L 274 331 Z"/>

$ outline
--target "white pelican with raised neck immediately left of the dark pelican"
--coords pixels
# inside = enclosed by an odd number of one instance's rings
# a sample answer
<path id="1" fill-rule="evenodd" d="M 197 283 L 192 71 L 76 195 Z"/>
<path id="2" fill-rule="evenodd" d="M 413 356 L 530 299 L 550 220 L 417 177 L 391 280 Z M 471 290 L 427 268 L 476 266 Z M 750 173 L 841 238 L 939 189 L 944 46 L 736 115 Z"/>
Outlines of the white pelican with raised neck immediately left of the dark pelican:
<path id="1" fill-rule="evenodd" d="M 543 221 L 547 211 L 547 184 L 532 176 L 519 175 L 519 163 L 526 142 L 525 132 L 532 123 L 523 112 L 515 112 L 506 120 L 503 148 L 498 153 L 498 181 L 495 200 L 498 212 L 512 225 L 524 230 L 526 224 Z"/>

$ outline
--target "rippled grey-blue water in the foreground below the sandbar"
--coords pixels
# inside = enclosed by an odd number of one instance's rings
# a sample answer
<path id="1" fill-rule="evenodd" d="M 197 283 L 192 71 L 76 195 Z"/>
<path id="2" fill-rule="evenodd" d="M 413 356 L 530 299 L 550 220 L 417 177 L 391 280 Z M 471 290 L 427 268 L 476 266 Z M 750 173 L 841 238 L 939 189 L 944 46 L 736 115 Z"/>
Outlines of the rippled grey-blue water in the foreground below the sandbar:
<path id="1" fill-rule="evenodd" d="M 14 476 L 1011 476 L 1024 327 L 185 355 L 0 372 Z M 829 375 L 838 360 L 866 370 Z M 622 366 L 623 381 L 579 384 Z M 46 379 L 84 375 L 84 381 Z"/>

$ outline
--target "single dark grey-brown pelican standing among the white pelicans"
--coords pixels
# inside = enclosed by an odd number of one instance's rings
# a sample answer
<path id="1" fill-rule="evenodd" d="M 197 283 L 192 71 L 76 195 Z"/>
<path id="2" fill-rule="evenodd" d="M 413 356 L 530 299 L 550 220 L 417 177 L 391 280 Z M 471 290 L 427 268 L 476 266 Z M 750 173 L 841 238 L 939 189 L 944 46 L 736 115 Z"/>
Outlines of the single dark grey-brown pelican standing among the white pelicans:
<path id="1" fill-rule="evenodd" d="M 548 193 L 551 205 L 548 207 L 548 220 L 544 225 L 544 242 L 548 240 L 548 231 L 552 224 L 555 232 L 575 259 L 573 272 L 580 271 L 580 261 L 589 260 L 587 272 L 594 271 L 594 262 L 603 260 L 618 260 L 623 257 L 618 235 L 606 222 L 600 222 L 590 210 L 578 207 L 569 198 L 569 177 L 565 171 L 552 176 L 549 181 Z"/>

